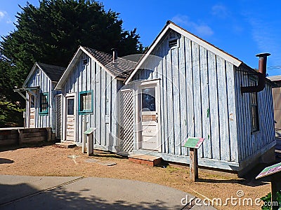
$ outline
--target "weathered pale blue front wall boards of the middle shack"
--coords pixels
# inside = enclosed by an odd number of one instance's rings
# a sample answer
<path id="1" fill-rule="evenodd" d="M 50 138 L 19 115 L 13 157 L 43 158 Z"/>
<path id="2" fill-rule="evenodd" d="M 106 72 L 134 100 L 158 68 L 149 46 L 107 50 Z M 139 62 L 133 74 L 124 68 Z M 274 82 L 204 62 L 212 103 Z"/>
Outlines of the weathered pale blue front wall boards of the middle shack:
<path id="1" fill-rule="evenodd" d="M 89 60 L 88 65 L 82 66 L 82 59 Z M 110 76 L 93 59 L 82 53 L 73 67 L 72 73 L 63 86 L 63 95 L 76 94 L 76 107 L 78 107 L 78 94 L 81 91 L 93 90 L 93 113 L 79 115 L 76 110 L 76 139 L 78 144 L 82 142 L 82 118 L 86 118 L 86 129 L 96 127 L 96 148 L 116 151 L 117 138 L 117 91 L 122 82 Z M 105 115 L 110 120 L 105 123 Z"/>

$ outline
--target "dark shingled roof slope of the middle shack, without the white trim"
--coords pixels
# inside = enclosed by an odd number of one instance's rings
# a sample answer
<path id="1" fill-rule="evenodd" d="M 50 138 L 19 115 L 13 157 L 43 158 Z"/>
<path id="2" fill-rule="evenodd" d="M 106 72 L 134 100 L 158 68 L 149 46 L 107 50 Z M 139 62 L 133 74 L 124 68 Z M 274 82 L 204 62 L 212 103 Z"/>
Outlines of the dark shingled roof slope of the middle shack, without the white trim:
<path id="1" fill-rule="evenodd" d="M 118 57 L 117 59 L 115 59 L 115 62 L 113 62 L 112 55 L 106 52 L 101 52 L 87 47 L 83 48 L 93 57 L 95 57 L 98 62 L 100 62 L 100 64 L 103 64 L 103 66 L 105 66 L 108 71 L 110 71 L 114 76 L 118 78 L 126 78 L 127 76 L 129 76 L 129 73 L 136 67 L 136 62 L 133 62 L 129 59 Z"/>

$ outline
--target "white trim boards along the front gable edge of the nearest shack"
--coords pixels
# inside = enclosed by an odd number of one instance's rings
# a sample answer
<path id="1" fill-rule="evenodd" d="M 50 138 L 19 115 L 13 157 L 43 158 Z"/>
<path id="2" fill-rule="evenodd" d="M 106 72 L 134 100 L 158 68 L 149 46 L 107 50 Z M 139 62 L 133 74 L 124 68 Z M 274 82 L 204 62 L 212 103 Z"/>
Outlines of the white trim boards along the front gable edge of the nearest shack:
<path id="1" fill-rule="evenodd" d="M 228 54 L 227 52 L 224 52 L 223 50 L 217 48 L 216 46 L 212 45 L 211 43 L 204 41 L 202 38 L 195 36 L 194 34 L 191 34 L 189 31 L 186 31 L 185 29 L 179 27 L 174 22 L 167 21 L 165 27 L 162 29 L 162 31 L 158 34 L 158 36 L 155 38 L 155 41 L 150 45 L 148 50 L 145 52 L 145 54 L 141 57 L 141 59 L 138 61 L 138 64 L 136 64 L 136 69 L 133 70 L 133 72 L 130 74 L 128 78 L 125 80 L 125 84 L 128 84 L 131 78 L 135 75 L 135 73 L 138 71 L 138 69 L 141 69 L 141 66 L 145 62 L 145 59 L 148 58 L 148 56 L 152 53 L 152 50 L 155 49 L 157 44 L 162 41 L 162 38 L 166 35 L 166 32 L 169 30 L 174 30 L 178 32 L 178 34 L 181 34 L 187 38 L 189 38 L 191 41 L 202 45 L 202 47 L 206 48 L 207 50 L 214 52 L 214 54 L 222 57 L 223 59 L 226 59 L 226 61 L 230 62 L 231 64 L 235 66 L 240 66 L 242 64 L 242 61 L 237 59 L 236 57 L 233 57 L 233 55 Z"/>

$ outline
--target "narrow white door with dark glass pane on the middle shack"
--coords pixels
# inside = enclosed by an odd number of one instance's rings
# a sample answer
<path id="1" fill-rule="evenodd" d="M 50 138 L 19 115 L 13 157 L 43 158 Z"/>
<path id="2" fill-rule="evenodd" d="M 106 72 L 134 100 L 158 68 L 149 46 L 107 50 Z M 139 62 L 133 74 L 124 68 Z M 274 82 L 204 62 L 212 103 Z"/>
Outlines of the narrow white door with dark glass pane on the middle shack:
<path id="1" fill-rule="evenodd" d="M 75 98 L 66 98 L 66 141 L 75 140 Z"/>

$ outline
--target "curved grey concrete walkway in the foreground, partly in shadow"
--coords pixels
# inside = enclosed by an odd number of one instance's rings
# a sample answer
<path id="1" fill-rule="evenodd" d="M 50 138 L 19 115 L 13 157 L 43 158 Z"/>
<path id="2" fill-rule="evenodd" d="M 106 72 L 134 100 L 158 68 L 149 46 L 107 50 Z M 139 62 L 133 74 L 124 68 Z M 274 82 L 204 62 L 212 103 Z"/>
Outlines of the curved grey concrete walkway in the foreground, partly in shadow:
<path id="1" fill-rule="evenodd" d="M 183 205 L 192 198 L 141 181 L 0 175 L 0 209 L 214 209 Z"/>

